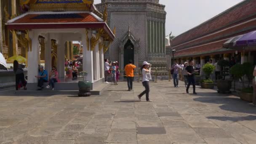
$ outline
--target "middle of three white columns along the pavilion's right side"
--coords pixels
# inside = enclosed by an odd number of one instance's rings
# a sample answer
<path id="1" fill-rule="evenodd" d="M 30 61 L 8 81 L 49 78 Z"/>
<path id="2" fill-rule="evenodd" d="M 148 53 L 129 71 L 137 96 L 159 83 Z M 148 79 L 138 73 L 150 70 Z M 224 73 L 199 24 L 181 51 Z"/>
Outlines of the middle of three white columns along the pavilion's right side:
<path id="1" fill-rule="evenodd" d="M 99 80 L 99 42 L 97 42 L 93 50 L 93 79 Z"/>

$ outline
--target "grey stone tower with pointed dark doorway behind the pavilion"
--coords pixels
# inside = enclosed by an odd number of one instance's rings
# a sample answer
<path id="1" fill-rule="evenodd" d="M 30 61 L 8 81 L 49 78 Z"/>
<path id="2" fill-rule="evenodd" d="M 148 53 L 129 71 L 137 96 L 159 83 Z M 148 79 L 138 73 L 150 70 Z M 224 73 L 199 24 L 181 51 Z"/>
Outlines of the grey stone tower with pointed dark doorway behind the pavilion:
<path id="1" fill-rule="evenodd" d="M 116 38 L 105 58 L 119 61 L 120 67 L 131 59 L 141 66 L 149 61 L 165 69 L 165 5 L 159 0 L 101 0 L 96 4 L 103 12 L 107 5 L 110 29 L 116 27 Z"/>

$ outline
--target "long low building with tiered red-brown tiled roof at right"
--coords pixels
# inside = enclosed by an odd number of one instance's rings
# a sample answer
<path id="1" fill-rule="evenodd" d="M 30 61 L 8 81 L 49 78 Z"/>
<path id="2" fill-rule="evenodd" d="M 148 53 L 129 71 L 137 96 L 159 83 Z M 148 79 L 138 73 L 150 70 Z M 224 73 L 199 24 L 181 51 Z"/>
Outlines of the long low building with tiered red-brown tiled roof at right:
<path id="1" fill-rule="evenodd" d="M 193 59 L 201 67 L 210 59 L 213 63 L 218 59 L 235 58 L 237 63 L 250 61 L 256 64 L 256 48 L 225 48 L 224 43 L 233 43 L 248 32 L 256 30 L 256 0 L 244 0 L 241 3 L 214 16 L 212 19 L 189 29 L 171 41 L 168 53 L 180 63 Z M 170 59 L 169 59 L 170 61 Z"/>

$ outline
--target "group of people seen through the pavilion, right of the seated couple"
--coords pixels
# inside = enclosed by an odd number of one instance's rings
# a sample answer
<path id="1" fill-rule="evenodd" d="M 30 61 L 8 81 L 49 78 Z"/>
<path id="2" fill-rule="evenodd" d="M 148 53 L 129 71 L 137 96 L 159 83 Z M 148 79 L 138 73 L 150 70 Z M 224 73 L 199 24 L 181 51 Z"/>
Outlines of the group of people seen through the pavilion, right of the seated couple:
<path id="1" fill-rule="evenodd" d="M 65 60 L 65 72 L 67 78 L 77 78 L 78 68 L 80 67 L 80 61 Z"/>

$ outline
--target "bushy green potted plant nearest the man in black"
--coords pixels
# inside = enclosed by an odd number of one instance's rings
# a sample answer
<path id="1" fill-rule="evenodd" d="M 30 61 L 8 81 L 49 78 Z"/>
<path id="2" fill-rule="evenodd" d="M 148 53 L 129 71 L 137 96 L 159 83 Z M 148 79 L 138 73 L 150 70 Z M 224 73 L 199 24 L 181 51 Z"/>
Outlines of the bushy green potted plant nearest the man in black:
<path id="1" fill-rule="evenodd" d="M 205 79 L 200 81 L 200 85 L 202 88 L 214 88 L 213 80 L 211 80 L 211 74 L 213 73 L 215 66 L 212 64 L 205 64 L 203 66 L 203 72 L 205 73 Z"/>

